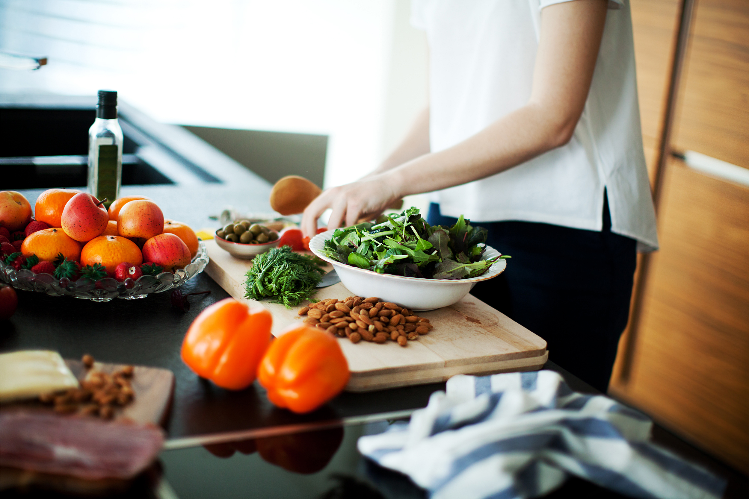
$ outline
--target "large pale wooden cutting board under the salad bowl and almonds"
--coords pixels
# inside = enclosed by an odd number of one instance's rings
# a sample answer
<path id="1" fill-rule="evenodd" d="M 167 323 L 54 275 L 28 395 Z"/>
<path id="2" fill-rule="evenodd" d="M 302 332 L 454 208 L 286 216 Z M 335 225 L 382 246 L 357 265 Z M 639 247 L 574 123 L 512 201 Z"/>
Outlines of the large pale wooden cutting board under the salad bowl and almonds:
<path id="1" fill-rule="evenodd" d="M 252 260 L 232 257 L 213 240 L 206 242 L 206 248 L 210 262 L 205 272 L 235 299 L 255 302 L 244 298 L 245 273 Z M 352 294 L 338 283 L 321 288 L 315 299 L 344 299 Z M 262 305 L 273 313 L 275 336 L 302 319 L 298 308 L 289 310 L 268 301 Z M 422 385 L 455 374 L 538 370 L 548 358 L 545 340 L 470 294 L 449 307 L 419 312 L 419 316 L 427 317 L 434 329 L 405 347 L 391 341 L 380 345 L 339 339 L 351 370 L 347 391 Z"/>

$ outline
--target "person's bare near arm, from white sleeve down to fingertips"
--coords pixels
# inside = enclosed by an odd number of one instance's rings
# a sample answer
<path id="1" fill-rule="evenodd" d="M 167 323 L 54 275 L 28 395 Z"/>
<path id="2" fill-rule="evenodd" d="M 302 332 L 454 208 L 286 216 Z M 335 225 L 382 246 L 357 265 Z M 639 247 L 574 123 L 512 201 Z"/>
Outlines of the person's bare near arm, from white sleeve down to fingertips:
<path id="1" fill-rule="evenodd" d="M 393 200 L 459 186 L 566 144 L 583 112 L 606 21 L 607 0 L 545 7 L 530 99 L 476 135 L 355 183 L 327 189 L 304 210 L 302 230 L 332 208 L 328 228 L 377 215 Z"/>

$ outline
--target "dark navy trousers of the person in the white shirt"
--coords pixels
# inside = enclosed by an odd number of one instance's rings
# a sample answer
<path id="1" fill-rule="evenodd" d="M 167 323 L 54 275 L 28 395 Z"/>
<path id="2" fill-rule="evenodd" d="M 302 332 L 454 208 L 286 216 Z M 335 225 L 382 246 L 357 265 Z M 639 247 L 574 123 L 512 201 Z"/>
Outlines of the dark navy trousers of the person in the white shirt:
<path id="1" fill-rule="evenodd" d="M 457 220 L 435 203 L 427 219 Z M 488 245 L 512 258 L 473 296 L 544 338 L 551 361 L 605 393 L 637 263 L 634 239 L 611 233 L 608 203 L 601 232 L 524 221 L 476 225 L 488 229 Z"/>

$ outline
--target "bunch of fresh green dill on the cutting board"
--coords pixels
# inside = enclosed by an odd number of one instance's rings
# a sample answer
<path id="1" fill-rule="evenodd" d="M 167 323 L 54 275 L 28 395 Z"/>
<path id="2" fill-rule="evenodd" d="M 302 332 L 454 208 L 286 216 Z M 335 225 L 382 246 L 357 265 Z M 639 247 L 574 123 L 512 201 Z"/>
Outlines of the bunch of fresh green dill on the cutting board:
<path id="1" fill-rule="evenodd" d="M 324 271 L 322 260 L 295 253 L 289 246 L 273 248 L 259 254 L 246 273 L 245 298 L 273 299 L 287 308 L 295 307 L 303 299 L 315 294 Z"/>

